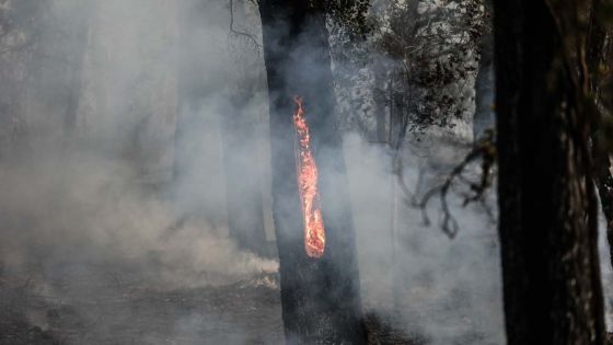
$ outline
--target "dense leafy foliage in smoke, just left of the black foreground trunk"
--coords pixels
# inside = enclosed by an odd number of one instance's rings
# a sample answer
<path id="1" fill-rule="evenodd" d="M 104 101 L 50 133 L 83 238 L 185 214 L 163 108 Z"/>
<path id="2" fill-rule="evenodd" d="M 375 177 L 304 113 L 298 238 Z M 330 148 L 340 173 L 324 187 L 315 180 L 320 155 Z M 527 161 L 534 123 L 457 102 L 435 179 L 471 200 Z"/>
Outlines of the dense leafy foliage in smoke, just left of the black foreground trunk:
<path id="1" fill-rule="evenodd" d="M 390 5 L 377 45 L 396 61 L 391 100 L 409 128 L 451 126 L 467 111 L 459 83 L 478 67 L 475 55 L 488 28 L 483 4 L 409 0 Z"/>

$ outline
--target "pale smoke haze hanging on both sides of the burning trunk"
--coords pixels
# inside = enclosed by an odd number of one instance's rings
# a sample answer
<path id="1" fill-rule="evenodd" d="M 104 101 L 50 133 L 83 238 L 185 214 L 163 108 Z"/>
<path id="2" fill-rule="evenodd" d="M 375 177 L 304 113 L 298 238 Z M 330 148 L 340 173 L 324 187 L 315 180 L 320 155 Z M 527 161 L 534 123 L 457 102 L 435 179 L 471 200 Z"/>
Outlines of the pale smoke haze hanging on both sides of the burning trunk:
<path id="1" fill-rule="evenodd" d="M 51 15 L 70 27 L 80 15 L 70 9 L 80 1 L 55 0 Z M 198 61 L 192 73 L 205 80 L 201 95 L 195 105 L 180 106 L 178 3 L 94 1 L 76 137 L 61 130 L 58 118 L 63 105 L 46 103 L 54 97 L 53 88 L 66 84 L 73 72 L 70 67 L 53 67 L 38 91 L 28 95 L 32 159 L 0 165 L 0 257 L 5 273 L 39 272 L 38 289 L 54 295 L 49 280 L 74 266 L 138 276 L 158 289 L 219 286 L 277 271 L 276 260 L 241 252 L 228 238 L 231 215 L 225 211 L 219 133 L 218 110 L 231 97 L 235 88 L 231 82 L 239 79 L 235 73 L 244 72 L 238 64 L 247 59 L 255 68 L 247 72 L 259 84 L 247 104 L 261 119 L 254 128 L 259 139 L 253 150 L 233 153 L 261 157 L 259 165 L 245 173 L 261 174 L 266 232 L 274 240 L 261 53 L 230 34 L 225 2 L 209 0 L 187 43 Z M 258 36 L 257 12 L 253 5 L 250 9 L 247 23 L 238 27 Z M 56 56 L 69 56 L 71 49 L 71 42 L 65 41 L 49 47 Z M 59 66 L 53 59 L 46 64 Z M 184 120 L 178 149 L 177 110 Z M 466 133 L 454 135 L 466 138 Z M 429 136 L 440 138 L 436 133 Z M 462 157 L 462 150 L 450 147 L 443 154 L 429 152 L 436 157 L 430 159 L 419 158 L 421 152 L 408 146 L 404 151 L 410 187 L 418 185 L 420 170 L 432 174 Z M 496 226 L 483 209 L 463 208 L 452 199 L 461 231 L 450 240 L 438 227 L 437 199 L 430 209 L 433 225 L 426 227 L 420 211 L 404 205 L 396 187 L 392 230 L 388 149 L 348 134 L 345 153 L 365 311 L 375 311 L 406 332 L 424 334 L 432 344 L 504 344 Z M 153 184 L 162 187 L 151 188 Z M 489 204 L 494 207 L 495 200 Z M 606 281 L 610 276 L 608 269 Z M 176 332 L 196 334 L 211 318 L 195 314 L 176 320 Z"/>

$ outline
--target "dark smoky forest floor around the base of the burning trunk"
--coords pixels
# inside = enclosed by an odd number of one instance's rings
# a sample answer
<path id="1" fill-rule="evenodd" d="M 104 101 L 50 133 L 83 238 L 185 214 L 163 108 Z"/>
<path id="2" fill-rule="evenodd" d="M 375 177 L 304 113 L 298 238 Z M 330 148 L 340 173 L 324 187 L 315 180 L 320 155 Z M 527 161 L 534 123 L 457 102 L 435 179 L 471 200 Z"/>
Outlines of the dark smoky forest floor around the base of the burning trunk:
<path id="1" fill-rule="evenodd" d="M 66 278 L 65 278 L 66 279 Z M 50 284 L 0 276 L 0 344 L 284 344 L 277 274 L 160 290 L 105 273 Z M 48 285 L 49 283 L 47 283 Z M 63 289 L 62 289 L 63 288 Z M 57 291 L 63 294 L 57 294 Z M 61 297 L 58 297 L 61 296 Z M 423 344 L 368 314 L 370 344 Z"/>

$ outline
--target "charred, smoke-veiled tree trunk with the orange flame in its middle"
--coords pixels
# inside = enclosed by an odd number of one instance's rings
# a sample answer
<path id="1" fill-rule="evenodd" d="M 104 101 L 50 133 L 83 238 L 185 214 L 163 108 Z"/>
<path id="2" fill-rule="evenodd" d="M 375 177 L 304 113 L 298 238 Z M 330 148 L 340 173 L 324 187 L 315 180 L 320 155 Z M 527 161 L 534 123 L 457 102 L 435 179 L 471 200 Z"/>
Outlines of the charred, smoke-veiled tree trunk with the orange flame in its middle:
<path id="1" fill-rule="evenodd" d="M 321 11 L 309 1 L 262 0 L 268 77 L 273 211 L 288 343 L 363 344 L 355 234 L 331 58 Z M 307 255 L 294 161 L 293 96 L 304 100 L 326 230 L 325 253 Z"/>

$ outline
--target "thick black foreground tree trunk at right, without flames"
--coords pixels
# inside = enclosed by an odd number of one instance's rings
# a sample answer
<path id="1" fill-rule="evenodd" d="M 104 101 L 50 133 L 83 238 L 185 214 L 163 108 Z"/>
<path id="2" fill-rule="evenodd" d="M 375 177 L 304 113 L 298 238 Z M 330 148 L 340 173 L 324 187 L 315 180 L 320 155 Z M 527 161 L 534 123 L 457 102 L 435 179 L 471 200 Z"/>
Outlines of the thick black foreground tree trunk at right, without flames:
<path id="1" fill-rule="evenodd" d="M 545 1 L 497 0 L 495 11 L 508 344 L 604 344 L 589 131 L 570 74 L 578 68 L 562 64 Z"/>

